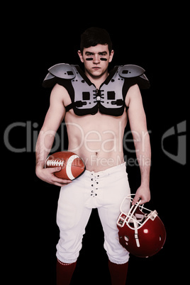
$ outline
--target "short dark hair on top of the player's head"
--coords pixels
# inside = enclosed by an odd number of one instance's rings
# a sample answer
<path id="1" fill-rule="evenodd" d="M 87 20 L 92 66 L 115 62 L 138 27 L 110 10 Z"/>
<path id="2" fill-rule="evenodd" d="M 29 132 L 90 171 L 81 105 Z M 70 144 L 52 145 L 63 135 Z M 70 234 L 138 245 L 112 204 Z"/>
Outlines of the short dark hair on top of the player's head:
<path id="1" fill-rule="evenodd" d="M 104 28 L 88 28 L 82 33 L 80 45 L 81 52 L 83 52 L 84 47 L 94 47 L 95 45 L 108 45 L 109 53 L 111 53 L 111 38 Z"/>

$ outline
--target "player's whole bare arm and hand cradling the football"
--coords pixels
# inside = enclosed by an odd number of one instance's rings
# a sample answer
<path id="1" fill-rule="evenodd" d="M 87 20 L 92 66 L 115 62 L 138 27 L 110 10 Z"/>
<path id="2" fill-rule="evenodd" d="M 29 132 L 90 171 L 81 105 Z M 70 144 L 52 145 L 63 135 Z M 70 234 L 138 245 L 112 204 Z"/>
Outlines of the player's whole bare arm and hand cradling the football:
<path id="1" fill-rule="evenodd" d="M 67 93 L 66 89 L 58 84 L 54 86 L 50 96 L 50 107 L 45 116 L 43 127 L 38 135 L 36 143 L 36 167 L 35 173 L 38 178 L 50 184 L 63 186 L 70 181 L 55 177 L 54 172 L 60 171 L 61 167 L 44 168 L 45 160 L 50 153 L 52 144 L 55 139 L 55 134 L 63 118 L 65 117 L 64 96 Z"/>

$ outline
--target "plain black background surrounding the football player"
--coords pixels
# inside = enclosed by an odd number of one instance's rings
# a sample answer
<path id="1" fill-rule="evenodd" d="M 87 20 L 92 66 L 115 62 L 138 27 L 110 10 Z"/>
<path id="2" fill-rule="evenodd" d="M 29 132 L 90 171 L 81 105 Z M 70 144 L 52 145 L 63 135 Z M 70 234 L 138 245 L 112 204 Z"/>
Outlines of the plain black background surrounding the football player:
<path id="1" fill-rule="evenodd" d="M 110 4 L 111 5 L 111 4 Z M 185 255 L 186 233 L 179 213 L 186 203 L 186 166 L 169 159 L 162 151 L 162 135 L 186 120 L 183 87 L 184 24 L 181 12 L 159 6 L 125 8 L 94 4 L 78 7 L 28 6 L 10 16 L 7 13 L 2 91 L 6 116 L 4 130 L 15 122 L 29 122 L 30 152 L 15 153 L 4 147 L 2 193 L 2 247 L 6 278 L 19 284 L 55 284 L 56 225 L 59 188 L 35 177 L 35 143 L 49 106 L 50 89 L 41 86 L 47 68 L 60 62 L 81 65 L 77 55 L 80 34 L 91 26 L 106 28 L 115 55 L 110 67 L 135 64 L 143 67 L 151 87 L 142 91 L 147 128 L 152 145 L 150 188 L 147 208 L 157 210 L 167 230 L 164 248 L 154 257 L 130 257 L 127 284 L 154 284 L 181 278 L 179 264 Z M 13 8 L 13 7 L 12 7 Z M 47 9 L 48 8 L 48 9 Z M 180 18 L 180 25 L 179 19 Z M 182 48 L 181 48 L 182 47 Z M 4 88 L 3 88 L 4 87 Z M 33 125 L 35 123 L 35 125 Z M 127 127 L 129 128 L 129 127 Z M 9 142 L 26 147 L 26 128 L 13 128 Z M 177 155 L 177 136 L 164 147 Z M 130 158 L 130 153 L 127 154 Z M 131 191 L 140 184 L 138 167 L 127 167 Z M 110 284 L 104 236 L 96 210 L 93 211 L 72 284 Z M 13 281 L 11 281 L 13 279 Z M 8 284 L 8 283 L 7 283 Z"/>

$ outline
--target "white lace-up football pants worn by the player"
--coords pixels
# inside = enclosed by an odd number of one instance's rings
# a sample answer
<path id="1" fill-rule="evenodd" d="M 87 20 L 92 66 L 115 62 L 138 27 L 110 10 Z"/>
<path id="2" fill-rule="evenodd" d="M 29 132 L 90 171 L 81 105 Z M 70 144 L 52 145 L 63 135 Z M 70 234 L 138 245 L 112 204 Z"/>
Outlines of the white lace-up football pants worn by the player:
<path id="1" fill-rule="evenodd" d="M 71 184 L 62 186 L 57 208 L 57 225 L 60 228 L 57 259 L 65 263 L 77 261 L 91 209 L 98 208 L 108 259 L 116 264 L 128 262 L 129 253 L 118 241 L 116 225 L 121 202 L 128 194 L 130 187 L 125 163 L 102 172 L 86 170 Z"/>

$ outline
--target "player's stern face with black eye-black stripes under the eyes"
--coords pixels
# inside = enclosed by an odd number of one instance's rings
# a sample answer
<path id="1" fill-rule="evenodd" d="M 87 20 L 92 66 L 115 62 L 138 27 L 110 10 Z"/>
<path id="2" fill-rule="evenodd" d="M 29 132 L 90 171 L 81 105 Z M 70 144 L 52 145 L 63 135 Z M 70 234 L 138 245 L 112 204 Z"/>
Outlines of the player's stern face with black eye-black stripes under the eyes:
<path id="1" fill-rule="evenodd" d="M 96 45 L 95 47 L 84 47 L 83 53 L 78 52 L 80 60 L 84 62 L 85 72 L 91 77 L 101 77 L 108 70 L 108 63 L 113 58 L 108 51 L 108 45 Z"/>

